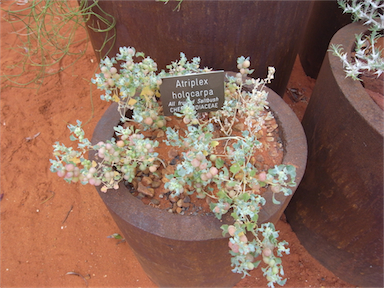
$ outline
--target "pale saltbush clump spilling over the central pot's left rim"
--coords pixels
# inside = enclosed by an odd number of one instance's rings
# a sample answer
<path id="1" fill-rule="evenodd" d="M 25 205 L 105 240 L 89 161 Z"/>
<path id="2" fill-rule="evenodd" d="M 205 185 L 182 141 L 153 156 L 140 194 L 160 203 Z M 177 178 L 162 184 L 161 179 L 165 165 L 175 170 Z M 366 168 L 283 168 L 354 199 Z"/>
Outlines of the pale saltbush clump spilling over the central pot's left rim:
<path id="1" fill-rule="evenodd" d="M 116 134 L 124 140 L 116 142 L 112 138 L 106 143 L 99 142 L 96 145 L 91 145 L 90 141 L 84 138 L 80 121 L 76 126 L 70 125 L 69 129 L 73 133 L 71 140 L 79 142 L 78 148 L 81 151 L 56 143 L 53 146 L 56 160 L 50 160 L 51 171 L 62 175 L 67 182 L 80 181 L 82 184 L 103 185 L 102 191 L 106 192 L 107 189 L 118 189 L 118 183 L 123 179 L 132 182 L 136 169 L 145 170 L 157 160 L 158 153 L 154 152 L 154 148 L 159 143 L 144 138 L 132 128 L 115 127 Z M 102 161 L 87 160 L 84 154 L 88 151 L 97 153 Z M 69 167 L 75 166 L 76 173 L 68 169 L 68 164 Z"/>

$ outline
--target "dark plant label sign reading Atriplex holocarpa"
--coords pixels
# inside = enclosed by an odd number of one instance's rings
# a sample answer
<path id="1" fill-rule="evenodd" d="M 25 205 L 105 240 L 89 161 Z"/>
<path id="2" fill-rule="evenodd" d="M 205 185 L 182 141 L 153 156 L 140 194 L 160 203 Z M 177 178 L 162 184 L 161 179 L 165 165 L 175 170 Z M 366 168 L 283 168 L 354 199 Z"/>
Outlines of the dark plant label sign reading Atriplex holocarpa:
<path id="1" fill-rule="evenodd" d="M 160 94 L 166 116 L 180 112 L 188 98 L 197 113 L 219 110 L 224 103 L 224 71 L 164 77 Z"/>

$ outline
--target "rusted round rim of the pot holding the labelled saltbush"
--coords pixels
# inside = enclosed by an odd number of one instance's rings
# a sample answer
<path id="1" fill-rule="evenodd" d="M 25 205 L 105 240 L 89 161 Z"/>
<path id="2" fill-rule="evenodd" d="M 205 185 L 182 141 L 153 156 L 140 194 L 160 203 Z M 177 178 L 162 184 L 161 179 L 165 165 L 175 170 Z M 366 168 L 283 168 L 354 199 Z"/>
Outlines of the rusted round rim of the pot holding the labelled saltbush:
<path id="1" fill-rule="evenodd" d="M 280 125 L 280 137 L 285 147 L 283 163 L 296 166 L 296 183 L 300 183 L 307 160 L 307 142 L 303 128 L 296 115 L 281 97 L 269 88 L 266 88 L 266 90 L 269 92 L 268 101 L 270 108 Z M 96 144 L 99 141 L 110 139 L 114 134 L 113 127 L 118 124 L 119 120 L 120 115 L 117 112 L 117 104 L 114 103 L 98 122 L 93 134 L 92 143 Z M 89 157 L 91 160 L 96 160 L 94 155 L 95 153 L 90 153 Z M 228 221 L 232 221 L 229 215 L 220 221 L 213 215 L 178 215 L 144 205 L 141 200 L 132 196 L 122 183 L 120 183 L 118 190 L 108 190 L 107 193 L 101 192 L 100 186 L 96 187 L 96 189 L 108 209 L 132 225 L 160 237 L 184 241 L 222 238 L 220 226 L 223 223 L 230 223 Z M 293 187 L 292 190 L 295 191 L 296 187 Z M 281 204 L 275 205 L 271 201 L 272 193 L 268 189 L 263 194 L 267 204 L 263 206 L 260 213 L 260 223 L 269 222 L 269 219 L 276 212 L 285 209 L 291 199 L 291 196 L 285 197 L 280 195 L 282 194 L 280 193 L 276 195 L 276 199 Z M 188 232 L 185 233 L 186 231 Z"/>

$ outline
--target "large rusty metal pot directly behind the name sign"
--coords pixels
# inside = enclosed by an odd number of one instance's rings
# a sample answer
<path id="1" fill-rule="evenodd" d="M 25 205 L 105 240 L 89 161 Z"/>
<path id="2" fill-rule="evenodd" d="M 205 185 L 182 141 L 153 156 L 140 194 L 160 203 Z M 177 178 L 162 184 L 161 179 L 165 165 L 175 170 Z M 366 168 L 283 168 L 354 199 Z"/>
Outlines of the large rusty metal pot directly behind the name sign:
<path id="1" fill-rule="evenodd" d="M 250 56 L 255 77 L 266 75 L 268 66 L 276 68 L 270 84 L 284 95 L 312 1 L 183 1 L 175 11 L 175 3 L 158 1 L 98 1 L 103 11 L 94 12 L 116 20 L 115 41 L 106 39 L 113 33 L 88 29 L 98 58 L 113 57 L 119 47 L 133 46 L 150 55 L 159 69 L 166 69 L 169 59 L 179 59 L 180 51 L 188 59 L 199 56 L 202 67 L 237 71 L 236 59 Z M 89 5 L 93 0 L 89 0 Z M 234 4 L 236 3 L 236 4 Z M 106 14 L 107 13 L 107 14 Z M 91 16 L 88 26 L 107 28 Z M 111 43 L 113 43 L 111 46 Z"/>

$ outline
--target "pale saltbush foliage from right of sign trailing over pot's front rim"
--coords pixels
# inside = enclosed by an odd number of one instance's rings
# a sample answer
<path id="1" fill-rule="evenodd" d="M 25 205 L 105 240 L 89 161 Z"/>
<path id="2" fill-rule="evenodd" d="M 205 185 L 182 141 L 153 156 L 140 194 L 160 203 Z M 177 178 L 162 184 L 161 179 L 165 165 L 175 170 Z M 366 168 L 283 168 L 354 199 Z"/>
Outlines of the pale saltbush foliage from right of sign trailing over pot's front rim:
<path id="1" fill-rule="evenodd" d="M 229 77 L 226 83 L 224 107 L 211 112 L 209 120 L 198 119 L 189 99 L 181 112 L 177 113 L 177 116 L 187 123 L 188 130 L 179 134 L 178 131 L 168 128 L 166 142 L 168 145 L 185 147 L 188 151 L 183 153 L 182 163 L 176 167 L 173 175 L 167 176 L 170 181 L 165 184 L 165 188 L 174 195 L 187 192 L 197 193 L 200 198 L 208 196 L 216 199 L 217 202 L 211 203 L 210 206 L 218 219 L 232 211 L 233 226 L 236 227 L 236 233 L 229 239 L 230 253 L 233 256 L 232 271 L 244 276 L 249 275 L 248 271 L 259 265 L 260 261 L 255 259 L 266 247 L 272 250 L 276 248 L 277 256 L 282 256 L 283 252 L 289 254 L 289 249 L 285 248 L 287 243 L 277 241 L 278 232 L 275 231 L 273 224 L 258 226 L 258 213 L 266 201 L 262 196 L 255 194 L 254 190 L 270 185 L 273 187 L 273 195 L 283 193 L 288 196 L 292 193 L 289 187 L 296 185 L 294 166 L 275 166 L 267 171 L 265 180 L 260 181 L 257 175 L 261 171 L 250 162 L 257 149 L 262 148 L 255 137 L 255 132 L 261 129 L 265 118 L 267 120 L 272 118 L 271 114 L 267 114 L 264 118 L 260 113 L 268 107 L 267 93 L 263 88 L 265 83 L 273 79 L 274 69 L 269 69 L 268 76 L 264 80 L 246 81 L 244 76 L 252 71 L 247 69 L 249 63 L 245 61 L 249 62 L 249 59 L 244 57 L 238 59 L 238 68 L 240 67 L 241 72 L 236 77 Z M 243 90 L 244 85 L 251 85 L 249 92 Z M 232 136 L 234 118 L 237 116 L 246 119 L 247 130 L 243 131 L 241 136 Z M 220 124 L 223 137 L 213 138 L 213 123 Z M 215 155 L 215 147 L 219 142 L 226 143 L 224 155 Z M 225 161 L 229 162 L 229 169 L 224 166 Z M 214 175 L 211 173 L 212 168 L 217 171 Z M 216 195 L 212 194 L 214 186 L 219 191 Z M 185 187 L 189 187 L 189 190 L 186 191 Z M 273 202 L 279 204 L 275 197 Z M 222 229 L 223 235 L 228 233 L 228 225 L 223 225 Z M 254 236 L 252 241 L 244 238 L 247 233 Z M 269 256 L 267 267 L 262 268 L 270 287 L 273 287 L 274 283 L 280 285 L 285 283 L 281 277 L 284 275 L 281 259 L 277 256 L 273 254 Z"/>

